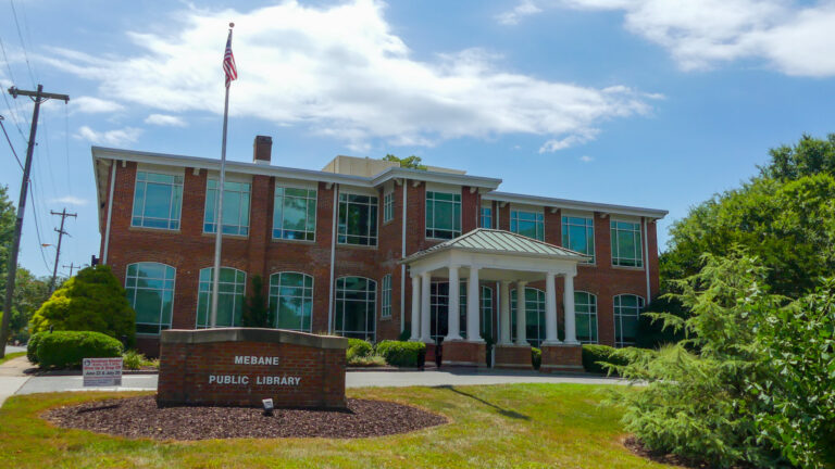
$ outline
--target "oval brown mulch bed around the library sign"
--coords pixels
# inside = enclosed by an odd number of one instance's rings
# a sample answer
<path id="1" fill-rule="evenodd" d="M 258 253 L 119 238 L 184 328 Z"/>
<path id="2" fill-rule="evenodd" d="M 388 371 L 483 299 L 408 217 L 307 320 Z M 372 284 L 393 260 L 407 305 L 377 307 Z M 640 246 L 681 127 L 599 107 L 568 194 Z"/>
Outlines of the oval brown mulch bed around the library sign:
<path id="1" fill-rule="evenodd" d="M 354 439 L 447 423 L 443 416 L 384 401 L 348 400 L 347 410 L 276 409 L 267 417 L 250 407 L 158 407 L 153 395 L 58 407 L 42 417 L 63 428 L 155 440 Z"/>

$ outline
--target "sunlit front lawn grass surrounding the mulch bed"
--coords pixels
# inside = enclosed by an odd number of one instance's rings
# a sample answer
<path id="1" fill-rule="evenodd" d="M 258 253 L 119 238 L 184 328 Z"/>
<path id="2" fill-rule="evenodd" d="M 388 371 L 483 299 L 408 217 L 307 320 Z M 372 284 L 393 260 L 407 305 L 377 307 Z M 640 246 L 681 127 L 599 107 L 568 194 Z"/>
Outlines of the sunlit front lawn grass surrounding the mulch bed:
<path id="1" fill-rule="evenodd" d="M 652 468 L 626 451 L 619 411 L 601 386 L 366 388 L 351 397 L 389 400 L 443 414 L 446 426 L 360 440 L 157 442 L 54 428 L 45 409 L 113 393 L 18 395 L 0 409 L 0 462 L 15 468 Z M 119 393 L 129 396 L 142 393 Z"/>

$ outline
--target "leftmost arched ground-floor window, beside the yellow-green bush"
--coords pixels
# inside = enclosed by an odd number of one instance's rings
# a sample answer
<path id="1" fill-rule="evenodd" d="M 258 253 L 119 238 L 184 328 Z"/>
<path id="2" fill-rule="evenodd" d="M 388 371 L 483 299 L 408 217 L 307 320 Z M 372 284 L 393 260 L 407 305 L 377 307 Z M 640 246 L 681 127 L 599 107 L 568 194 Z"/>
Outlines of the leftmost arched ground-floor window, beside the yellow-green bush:
<path id="1" fill-rule="evenodd" d="M 174 305 L 174 267 L 158 263 L 127 266 L 125 291 L 136 310 L 136 333 L 159 334 L 171 329 Z"/>

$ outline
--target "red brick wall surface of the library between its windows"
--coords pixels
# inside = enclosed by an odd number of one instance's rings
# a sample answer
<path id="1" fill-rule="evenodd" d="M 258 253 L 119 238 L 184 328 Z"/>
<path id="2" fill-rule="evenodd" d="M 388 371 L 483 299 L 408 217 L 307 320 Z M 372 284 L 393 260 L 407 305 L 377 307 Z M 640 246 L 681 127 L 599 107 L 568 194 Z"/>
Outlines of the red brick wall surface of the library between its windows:
<path id="1" fill-rule="evenodd" d="M 111 266 L 114 275 L 124 284 L 126 268 L 129 264 L 139 262 L 157 262 L 176 269 L 176 287 L 174 290 L 174 306 L 172 328 L 191 329 L 196 327 L 199 271 L 213 265 L 214 236 L 203 232 L 203 214 L 207 194 L 208 174 L 204 168 L 196 168 L 184 161 L 182 166 L 169 170 L 179 172 L 184 176 L 183 206 L 180 227 L 178 230 L 148 229 L 132 227 L 132 211 L 134 189 L 138 165 L 128 157 L 110 160 L 113 165 L 107 167 L 107 175 L 98 175 L 100 192 L 100 231 L 102 233 L 101 257 Z M 115 167 L 115 185 L 113 190 L 113 207 L 109 241 L 105 240 L 108 223 L 108 199 L 110 191 L 110 170 Z M 148 167 L 148 166 L 144 166 Z M 269 166 L 267 166 L 269 167 Z M 148 169 L 148 170 L 153 170 Z M 233 173 L 230 173 L 233 174 Z M 333 307 L 335 280 L 332 284 L 331 256 L 334 233 L 334 202 L 337 191 L 352 191 L 353 188 L 342 183 L 312 182 L 317 188 L 315 241 L 290 241 L 273 239 L 273 204 L 276 177 L 254 174 L 251 176 L 251 199 L 249 234 L 247 237 L 224 236 L 222 265 L 234 267 L 247 272 L 247 293 L 251 294 L 250 280 L 252 276 L 261 276 L 264 288 L 269 286 L 270 276 L 282 271 L 302 272 L 313 277 L 312 327 L 310 332 L 328 331 L 333 324 L 328 321 L 328 313 Z M 413 173 L 414 174 L 414 173 Z M 378 198 L 378 242 L 376 246 L 358 246 L 335 244 L 333 279 L 344 276 L 365 277 L 377 284 L 376 295 L 376 340 L 397 339 L 411 321 L 411 280 L 408 269 L 403 279 L 403 268 L 398 263 L 402 257 L 437 244 L 438 240 L 426 239 L 426 181 L 418 179 L 397 178 L 376 187 Z M 466 176 L 461 176 L 466 178 Z M 307 182 L 311 183 L 311 182 Z M 367 192 L 369 189 L 362 189 Z M 406 252 L 403 243 L 403 191 L 407 192 Z M 490 193 L 484 187 L 471 187 L 462 183 L 457 190 L 461 193 L 461 227 L 468 232 L 479 224 L 479 208 L 493 207 L 494 224 L 498 221 L 500 229 L 510 228 L 510 210 L 512 203 L 500 200 L 486 200 Z M 394 217 L 383 220 L 384 195 L 389 191 L 394 194 Z M 495 195 L 494 198 L 500 198 Z M 503 206 L 502 206 L 503 205 Z M 543 207 L 545 215 L 545 240 L 550 243 L 561 243 L 561 216 L 558 207 Z M 579 265 L 574 281 L 576 291 L 585 291 L 597 296 L 598 341 L 602 344 L 614 344 L 613 297 L 618 294 L 635 294 L 647 297 L 647 277 L 651 289 L 650 297 L 658 292 L 658 249 L 656 224 L 649 218 L 648 232 L 644 233 L 648 242 L 644 253 L 645 264 L 648 264 L 649 276 L 644 268 L 621 268 L 611 265 L 610 219 L 609 212 L 594 212 L 596 264 Z M 641 223 L 640 217 L 632 219 Z M 104 255 L 105 241 L 108 244 Z M 391 314 L 382 316 L 382 284 L 383 277 L 391 275 Z M 560 330 L 563 322 L 562 280 L 557 278 L 558 317 Z M 494 291 L 493 333 L 497 333 L 498 322 L 498 289 L 495 282 L 483 282 Z M 401 288 L 402 286 L 402 288 Z M 531 283 L 528 287 L 545 290 L 544 282 Z M 264 291 L 266 293 L 266 291 Z M 646 299 L 649 300 L 649 299 Z M 404 310 L 403 310 L 404 309 Z M 561 334 L 562 335 L 562 334 Z M 137 340 L 140 348 L 155 356 L 159 338 L 140 335 Z"/>

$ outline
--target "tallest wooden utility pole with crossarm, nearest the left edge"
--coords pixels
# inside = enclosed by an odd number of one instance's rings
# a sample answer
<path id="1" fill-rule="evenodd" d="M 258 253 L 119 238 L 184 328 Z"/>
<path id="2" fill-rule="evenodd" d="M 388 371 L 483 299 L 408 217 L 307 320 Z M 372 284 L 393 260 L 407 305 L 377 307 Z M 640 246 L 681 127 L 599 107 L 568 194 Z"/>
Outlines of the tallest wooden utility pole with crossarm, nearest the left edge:
<path id="1" fill-rule="evenodd" d="M 26 193 L 29 190 L 29 172 L 32 170 L 32 154 L 35 152 L 35 135 L 38 130 L 38 114 L 40 113 L 40 103 L 49 99 L 60 99 L 70 102 L 66 94 L 55 94 L 43 92 L 43 85 L 38 85 L 37 91 L 21 90 L 15 87 L 9 88 L 9 94 L 16 99 L 18 96 L 29 97 L 35 102 L 35 111 L 32 116 L 32 128 L 29 129 L 29 143 L 26 147 L 26 164 L 23 166 L 23 180 L 21 181 L 21 198 L 17 202 L 17 219 L 14 224 L 14 238 L 12 239 L 12 249 L 9 255 L 9 270 L 5 278 L 5 301 L 3 302 L 3 321 L 0 324 L 0 358 L 5 356 L 5 342 L 9 340 L 9 319 L 12 316 L 12 300 L 14 297 L 14 282 L 17 276 L 17 254 L 21 249 L 21 232 L 23 231 L 23 214 L 26 208 Z"/>

